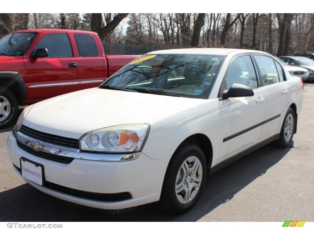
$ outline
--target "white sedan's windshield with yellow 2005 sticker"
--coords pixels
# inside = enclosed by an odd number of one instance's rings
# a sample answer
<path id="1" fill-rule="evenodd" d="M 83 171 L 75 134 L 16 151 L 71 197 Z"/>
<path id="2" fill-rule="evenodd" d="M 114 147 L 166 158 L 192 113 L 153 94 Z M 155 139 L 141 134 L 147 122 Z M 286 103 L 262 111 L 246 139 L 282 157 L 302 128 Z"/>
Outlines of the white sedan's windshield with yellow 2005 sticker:
<path id="1" fill-rule="evenodd" d="M 146 54 L 100 88 L 204 99 L 224 59 L 223 55 Z"/>

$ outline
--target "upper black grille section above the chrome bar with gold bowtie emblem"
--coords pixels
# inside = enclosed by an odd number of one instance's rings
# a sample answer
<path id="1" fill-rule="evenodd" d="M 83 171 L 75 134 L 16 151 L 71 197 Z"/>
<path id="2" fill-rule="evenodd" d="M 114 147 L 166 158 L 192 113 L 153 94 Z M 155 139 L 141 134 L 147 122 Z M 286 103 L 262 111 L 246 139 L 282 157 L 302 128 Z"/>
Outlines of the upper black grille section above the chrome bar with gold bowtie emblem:
<path id="1" fill-rule="evenodd" d="M 26 127 L 24 125 L 22 125 L 19 131 L 23 133 L 24 135 L 27 135 L 36 140 L 44 141 L 49 144 L 56 144 L 56 145 L 64 146 L 68 148 L 79 149 L 78 139 L 67 138 L 63 136 L 40 132 L 32 128 Z"/>

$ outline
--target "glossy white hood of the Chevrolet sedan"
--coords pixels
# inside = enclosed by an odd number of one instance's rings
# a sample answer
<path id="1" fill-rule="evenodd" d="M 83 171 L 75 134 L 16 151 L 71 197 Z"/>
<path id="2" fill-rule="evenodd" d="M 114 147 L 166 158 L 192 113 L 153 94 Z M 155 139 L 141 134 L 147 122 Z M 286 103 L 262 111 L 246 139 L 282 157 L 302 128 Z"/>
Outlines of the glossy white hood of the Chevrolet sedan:
<path id="1" fill-rule="evenodd" d="M 36 103 L 23 125 L 45 133 L 80 138 L 84 133 L 104 127 L 150 123 L 200 102 L 203 100 L 91 88 Z"/>

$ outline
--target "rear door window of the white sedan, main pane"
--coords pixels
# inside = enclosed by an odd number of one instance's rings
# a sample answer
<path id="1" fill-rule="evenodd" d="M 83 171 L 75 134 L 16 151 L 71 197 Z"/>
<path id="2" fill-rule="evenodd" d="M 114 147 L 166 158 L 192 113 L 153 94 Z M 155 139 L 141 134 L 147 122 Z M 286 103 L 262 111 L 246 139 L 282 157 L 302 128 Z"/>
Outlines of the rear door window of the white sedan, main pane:
<path id="1" fill-rule="evenodd" d="M 255 55 L 254 57 L 261 72 L 264 86 L 279 82 L 279 75 L 274 60 L 266 55 Z"/>

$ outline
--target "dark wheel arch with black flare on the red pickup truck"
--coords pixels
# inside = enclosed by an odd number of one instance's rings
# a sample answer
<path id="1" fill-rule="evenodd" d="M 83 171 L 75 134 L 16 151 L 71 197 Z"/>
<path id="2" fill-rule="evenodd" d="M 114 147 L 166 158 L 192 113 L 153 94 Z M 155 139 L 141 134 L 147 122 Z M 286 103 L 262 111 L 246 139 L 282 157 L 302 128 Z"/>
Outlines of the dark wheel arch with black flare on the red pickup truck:
<path id="1" fill-rule="evenodd" d="M 20 73 L 0 72 L 0 86 L 9 89 L 16 96 L 20 105 L 26 100 L 26 86 Z"/>

